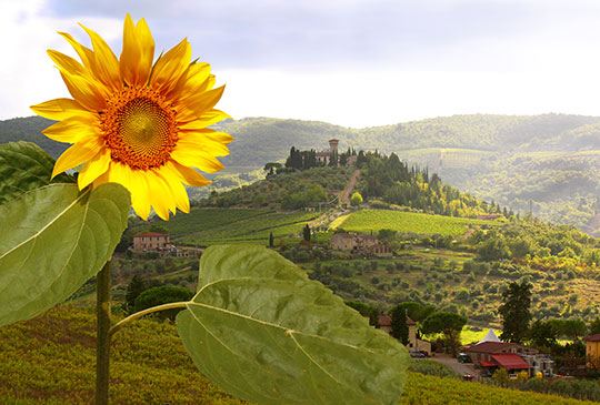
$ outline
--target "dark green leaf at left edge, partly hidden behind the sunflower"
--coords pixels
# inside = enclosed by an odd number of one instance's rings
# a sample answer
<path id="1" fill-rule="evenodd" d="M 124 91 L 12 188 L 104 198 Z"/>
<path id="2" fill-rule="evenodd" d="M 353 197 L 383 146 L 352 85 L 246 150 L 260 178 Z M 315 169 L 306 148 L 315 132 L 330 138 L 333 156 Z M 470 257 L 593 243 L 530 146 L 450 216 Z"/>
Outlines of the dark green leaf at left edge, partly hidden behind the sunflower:
<path id="1" fill-rule="evenodd" d="M 54 160 L 31 142 L 0 144 L 0 204 L 22 193 L 50 184 Z M 57 175 L 53 183 L 73 183 L 68 174 Z"/>

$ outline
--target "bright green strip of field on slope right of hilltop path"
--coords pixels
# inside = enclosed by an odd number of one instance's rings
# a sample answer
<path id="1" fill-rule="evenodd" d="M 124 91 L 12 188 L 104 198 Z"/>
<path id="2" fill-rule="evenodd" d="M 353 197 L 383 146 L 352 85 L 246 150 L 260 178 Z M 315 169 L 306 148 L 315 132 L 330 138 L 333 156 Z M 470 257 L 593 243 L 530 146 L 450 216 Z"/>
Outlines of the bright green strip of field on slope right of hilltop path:
<path id="1" fill-rule="evenodd" d="M 490 224 L 490 221 L 429 215 L 414 212 L 362 210 L 332 223 L 332 226 L 343 227 L 346 231 L 353 232 L 377 232 L 387 229 L 398 232 L 414 232 L 419 234 L 440 233 L 442 235 L 459 236 L 469 230 L 469 224 L 481 225 L 486 223 Z"/>

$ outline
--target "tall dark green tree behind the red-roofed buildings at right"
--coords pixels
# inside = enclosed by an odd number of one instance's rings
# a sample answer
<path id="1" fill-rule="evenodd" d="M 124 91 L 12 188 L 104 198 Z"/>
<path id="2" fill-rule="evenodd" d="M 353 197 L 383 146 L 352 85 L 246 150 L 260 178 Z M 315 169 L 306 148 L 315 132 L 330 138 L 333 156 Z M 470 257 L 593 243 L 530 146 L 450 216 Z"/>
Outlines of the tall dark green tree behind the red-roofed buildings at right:
<path id="1" fill-rule="evenodd" d="M 502 305 L 498 313 L 502 317 L 502 335 L 504 342 L 521 343 L 527 336 L 531 321 L 531 284 L 510 283 L 502 293 Z"/>

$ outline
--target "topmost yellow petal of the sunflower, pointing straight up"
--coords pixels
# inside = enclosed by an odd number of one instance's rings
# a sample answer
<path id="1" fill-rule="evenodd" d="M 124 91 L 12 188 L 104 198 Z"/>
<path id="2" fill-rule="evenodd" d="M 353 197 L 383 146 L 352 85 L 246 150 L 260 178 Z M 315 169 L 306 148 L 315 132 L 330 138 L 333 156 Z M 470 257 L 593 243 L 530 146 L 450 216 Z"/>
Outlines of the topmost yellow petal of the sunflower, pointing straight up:
<path id="1" fill-rule="evenodd" d="M 148 24 L 141 19 L 136 27 L 131 16 L 127 14 L 123 27 L 123 51 L 119 59 L 121 77 L 130 85 L 148 83 L 153 58 L 154 41 Z"/>

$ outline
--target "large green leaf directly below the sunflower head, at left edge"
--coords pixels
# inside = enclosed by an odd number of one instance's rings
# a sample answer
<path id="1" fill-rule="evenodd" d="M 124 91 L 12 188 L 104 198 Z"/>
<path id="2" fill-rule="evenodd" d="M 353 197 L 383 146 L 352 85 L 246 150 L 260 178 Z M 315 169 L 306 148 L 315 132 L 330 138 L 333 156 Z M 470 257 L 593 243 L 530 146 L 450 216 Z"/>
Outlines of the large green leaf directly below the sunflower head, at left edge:
<path id="1" fill-rule="evenodd" d="M 129 214 L 119 184 L 50 184 L 0 205 L 0 326 L 64 301 L 111 257 Z"/>

